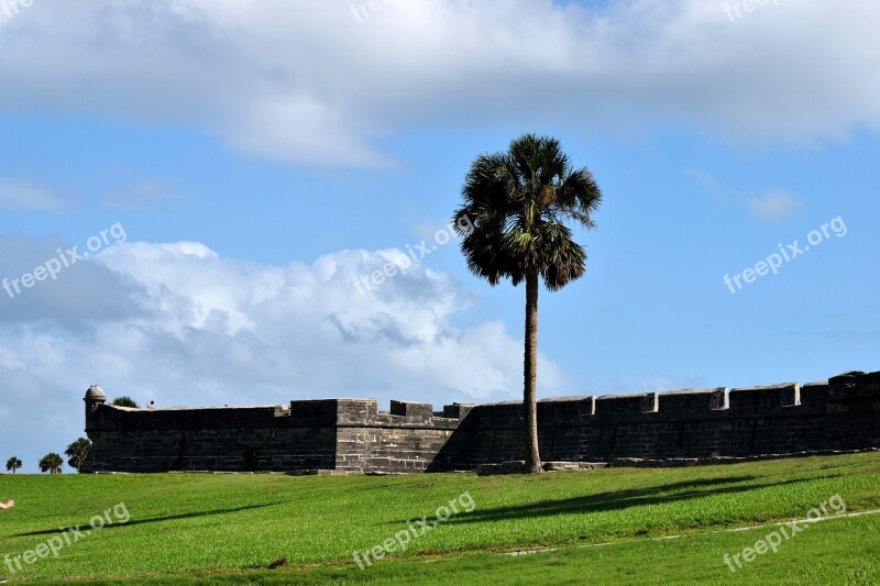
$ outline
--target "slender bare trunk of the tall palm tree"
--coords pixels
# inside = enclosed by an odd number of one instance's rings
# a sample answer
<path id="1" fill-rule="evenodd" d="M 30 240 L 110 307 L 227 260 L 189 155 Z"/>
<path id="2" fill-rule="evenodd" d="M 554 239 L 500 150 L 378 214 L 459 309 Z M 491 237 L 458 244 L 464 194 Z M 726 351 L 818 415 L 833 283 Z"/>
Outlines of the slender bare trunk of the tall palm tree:
<path id="1" fill-rule="evenodd" d="M 525 391 L 522 395 L 524 451 L 526 473 L 537 474 L 541 468 L 538 451 L 538 275 L 526 276 L 526 355 Z"/>

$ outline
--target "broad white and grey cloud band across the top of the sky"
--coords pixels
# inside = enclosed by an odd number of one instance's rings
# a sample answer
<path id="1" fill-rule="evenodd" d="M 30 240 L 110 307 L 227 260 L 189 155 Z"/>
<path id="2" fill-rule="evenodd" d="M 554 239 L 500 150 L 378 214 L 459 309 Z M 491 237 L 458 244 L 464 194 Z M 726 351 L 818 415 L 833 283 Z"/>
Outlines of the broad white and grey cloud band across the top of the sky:
<path id="1" fill-rule="evenodd" d="M 43 0 L 0 23 L 0 108 L 185 123 L 261 156 L 388 164 L 413 126 L 690 121 L 747 141 L 880 128 L 880 3 Z"/>

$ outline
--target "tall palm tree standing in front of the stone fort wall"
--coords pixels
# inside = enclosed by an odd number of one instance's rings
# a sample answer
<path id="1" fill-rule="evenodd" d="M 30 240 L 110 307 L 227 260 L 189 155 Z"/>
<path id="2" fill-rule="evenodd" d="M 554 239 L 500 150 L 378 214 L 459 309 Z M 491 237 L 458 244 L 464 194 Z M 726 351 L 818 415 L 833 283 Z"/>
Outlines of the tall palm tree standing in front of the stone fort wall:
<path id="1" fill-rule="evenodd" d="M 572 168 L 559 141 L 525 134 L 507 152 L 480 155 L 471 164 L 462 197 L 453 226 L 463 236 L 468 267 L 493 286 L 502 278 L 514 286 L 526 284 L 524 447 L 526 472 L 539 473 L 539 279 L 554 291 L 583 276 L 586 253 L 565 222 L 594 228 L 592 214 L 602 191 L 586 167 Z"/>

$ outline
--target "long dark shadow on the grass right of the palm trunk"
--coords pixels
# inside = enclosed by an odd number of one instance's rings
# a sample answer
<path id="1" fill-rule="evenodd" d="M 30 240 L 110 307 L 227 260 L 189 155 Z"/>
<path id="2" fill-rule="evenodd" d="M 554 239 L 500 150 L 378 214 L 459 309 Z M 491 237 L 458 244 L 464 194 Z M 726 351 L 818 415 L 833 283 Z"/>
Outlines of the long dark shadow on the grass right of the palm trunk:
<path id="1" fill-rule="evenodd" d="M 615 490 L 582 497 L 572 497 L 558 500 L 543 500 L 529 505 L 501 507 L 481 510 L 477 504 L 473 512 L 464 512 L 452 519 L 451 523 L 480 523 L 484 521 L 501 521 L 505 519 L 528 519 L 535 517 L 552 517 L 556 515 L 573 515 L 583 512 L 602 512 L 628 509 L 646 505 L 662 505 L 679 502 L 692 498 L 702 498 L 714 495 L 732 493 L 748 493 L 749 490 L 810 483 L 812 479 L 791 479 L 778 483 L 756 484 L 746 486 L 725 486 L 755 480 L 755 476 L 739 476 L 727 478 L 710 478 L 703 480 L 689 480 L 646 488 Z M 658 493 L 674 491 L 672 495 L 658 496 Z M 407 521 L 393 521 L 403 523 Z"/>

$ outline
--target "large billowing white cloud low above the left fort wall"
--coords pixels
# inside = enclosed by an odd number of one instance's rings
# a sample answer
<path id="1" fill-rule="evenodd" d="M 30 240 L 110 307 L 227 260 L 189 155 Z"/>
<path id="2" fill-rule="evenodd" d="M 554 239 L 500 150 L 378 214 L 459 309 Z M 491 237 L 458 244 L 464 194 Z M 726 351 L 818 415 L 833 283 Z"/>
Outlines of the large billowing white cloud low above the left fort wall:
<path id="1" fill-rule="evenodd" d="M 4 239 L 0 251 L 18 254 L 0 256 L 0 274 L 56 245 Z M 450 276 L 422 266 L 356 291 L 355 276 L 388 254 L 404 253 L 342 251 L 273 267 L 200 243 L 130 243 L 0 296 L 0 440 L 29 466 L 63 450 L 82 434 L 81 397 L 95 383 L 158 406 L 354 396 L 382 409 L 392 398 L 440 408 L 520 396 L 519 332 L 451 325 L 469 295 Z M 541 395 L 572 394 L 560 368 L 540 362 Z"/>

